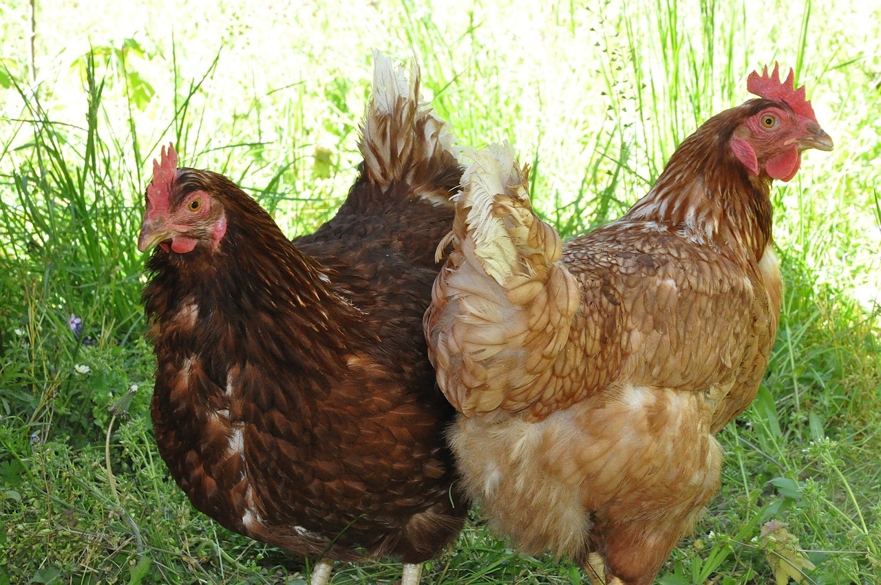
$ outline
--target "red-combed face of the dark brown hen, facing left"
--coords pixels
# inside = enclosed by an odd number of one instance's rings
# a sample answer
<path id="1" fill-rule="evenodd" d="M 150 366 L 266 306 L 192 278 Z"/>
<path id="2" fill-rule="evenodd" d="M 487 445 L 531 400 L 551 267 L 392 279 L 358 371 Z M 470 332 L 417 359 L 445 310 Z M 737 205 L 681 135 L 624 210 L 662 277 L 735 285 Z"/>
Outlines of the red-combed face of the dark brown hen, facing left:
<path id="1" fill-rule="evenodd" d="M 153 180 L 147 186 L 146 210 L 137 239 L 140 251 L 159 244 L 166 252 L 187 254 L 199 244 L 217 248 L 226 235 L 223 206 L 199 185 L 181 184 L 186 170 L 178 169 L 173 144 L 168 144 L 167 151 L 162 148 L 160 160 L 153 160 Z"/>

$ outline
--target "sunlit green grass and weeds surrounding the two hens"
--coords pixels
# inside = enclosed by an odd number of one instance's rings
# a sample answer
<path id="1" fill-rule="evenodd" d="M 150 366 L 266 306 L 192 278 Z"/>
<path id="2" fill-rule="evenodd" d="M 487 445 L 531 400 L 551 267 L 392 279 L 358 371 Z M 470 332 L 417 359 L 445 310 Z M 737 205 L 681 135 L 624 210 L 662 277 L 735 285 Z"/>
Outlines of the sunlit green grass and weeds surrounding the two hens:
<path id="1" fill-rule="evenodd" d="M 135 242 L 152 158 L 169 141 L 186 164 L 255 194 L 286 233 L 329 218 L 359 160 L 372 47 L 418 56 L 461 144 L 511 140 L 535 169 L 537 209 L 566 235 L 633 204 L 676 144 L 749 97 L 750 70 L 796 68 L 836 149 L 808 153 L 796 180 L 774 187 L 787 288 L 771 365 L 720 434 L 721 491 L 658 582 L 772 582 L 771 521 L 816 566 L 803 582 L 879 582 L 881 7 L 37 2 L 32 62 L 28 3 L 7 4 L 0 585 L 306 582 L 301 559 L 220 529 L 168 478 L 149 422 Z M 424 582 L 581 581 L 566 561 L 518 556 L 478 517 Z M 399 570 L 339 564 L 333 583 Z"/>

